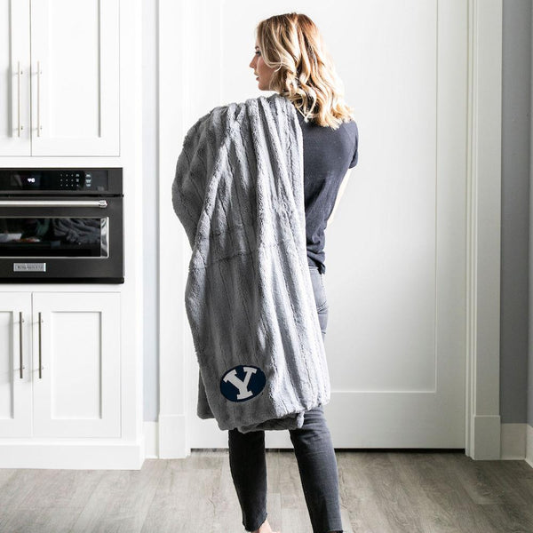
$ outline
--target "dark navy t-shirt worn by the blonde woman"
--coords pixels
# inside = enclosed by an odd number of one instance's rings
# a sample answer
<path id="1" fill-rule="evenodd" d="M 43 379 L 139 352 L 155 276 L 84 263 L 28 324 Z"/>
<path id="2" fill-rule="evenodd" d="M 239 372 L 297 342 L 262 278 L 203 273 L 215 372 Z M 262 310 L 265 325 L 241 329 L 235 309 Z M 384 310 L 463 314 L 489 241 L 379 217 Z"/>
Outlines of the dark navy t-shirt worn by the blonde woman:
<path id="1" fill-rule="evenodd" d="M 304 141 L 304 201 L 306 206 L 307 263 L 326 272 L 324 229 L 348 168 L 357 164 L 359 131 L 355 122 L 338 130 L 305 122 L 297 110 Z"/>

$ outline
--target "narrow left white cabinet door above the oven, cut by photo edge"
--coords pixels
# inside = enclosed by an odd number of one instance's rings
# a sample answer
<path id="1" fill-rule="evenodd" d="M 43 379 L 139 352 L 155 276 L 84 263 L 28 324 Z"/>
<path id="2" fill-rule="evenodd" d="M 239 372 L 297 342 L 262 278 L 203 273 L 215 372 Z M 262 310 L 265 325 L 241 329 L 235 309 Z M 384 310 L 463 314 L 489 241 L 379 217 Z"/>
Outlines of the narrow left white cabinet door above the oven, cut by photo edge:
<path id="1" fill-rule="evenodd" d="M 30 155 L 29 0 L 0 0 L 0 155 Z"/>

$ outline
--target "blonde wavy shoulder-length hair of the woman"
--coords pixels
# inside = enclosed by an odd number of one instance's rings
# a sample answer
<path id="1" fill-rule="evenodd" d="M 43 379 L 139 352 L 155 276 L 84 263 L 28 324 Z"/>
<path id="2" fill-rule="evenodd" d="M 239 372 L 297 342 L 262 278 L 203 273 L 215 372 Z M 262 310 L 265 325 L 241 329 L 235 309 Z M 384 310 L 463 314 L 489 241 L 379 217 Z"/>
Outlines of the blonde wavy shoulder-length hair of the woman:
<path id="1" fill-rule="evenodd" d="M 287 97 L 309 120 L 334 130 L 354 120 L 354 108 L 344 101 L 339 78 L 322 34 L 301 13 L 261 20 L 256 28 L 261 56 L 275 68 L 269 90 Z"/>

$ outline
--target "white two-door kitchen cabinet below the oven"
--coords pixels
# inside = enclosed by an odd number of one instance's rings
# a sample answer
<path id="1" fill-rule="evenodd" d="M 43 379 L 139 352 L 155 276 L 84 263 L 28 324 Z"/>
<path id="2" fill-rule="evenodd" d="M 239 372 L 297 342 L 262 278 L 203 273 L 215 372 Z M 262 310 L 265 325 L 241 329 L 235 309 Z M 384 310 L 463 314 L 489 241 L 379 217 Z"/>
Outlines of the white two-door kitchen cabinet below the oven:
<path id="1" fill-rule="evenodd" d="M 120 293 L 0 293 L 0 437 L 121 436 L 120 354 Z"/>

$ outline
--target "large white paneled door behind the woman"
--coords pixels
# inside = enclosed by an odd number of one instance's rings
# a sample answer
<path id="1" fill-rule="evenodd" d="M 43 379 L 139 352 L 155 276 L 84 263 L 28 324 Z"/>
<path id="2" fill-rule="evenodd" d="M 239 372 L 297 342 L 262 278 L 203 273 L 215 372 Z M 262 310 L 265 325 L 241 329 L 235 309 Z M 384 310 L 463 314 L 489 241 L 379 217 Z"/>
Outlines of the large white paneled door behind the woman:
<path id="1" fill-rule="evenodd" d="M 235 1 L 211 23 L 200 9 L 188 36 L 190 125 L 270 94 L 248 67 L 253 28 L 290 11 L 322 28 L 355 109 L 359 163 L 325 248 L 336 447 L 465 447 L 467 4 Z M 188 444 L 225 447 L 227 433 L 195 416 L 194 351 L 188 362 Z M 267 432 L 267 446 L 290 448 L 288 432 Z"/>

